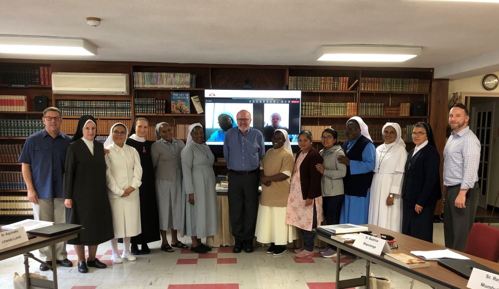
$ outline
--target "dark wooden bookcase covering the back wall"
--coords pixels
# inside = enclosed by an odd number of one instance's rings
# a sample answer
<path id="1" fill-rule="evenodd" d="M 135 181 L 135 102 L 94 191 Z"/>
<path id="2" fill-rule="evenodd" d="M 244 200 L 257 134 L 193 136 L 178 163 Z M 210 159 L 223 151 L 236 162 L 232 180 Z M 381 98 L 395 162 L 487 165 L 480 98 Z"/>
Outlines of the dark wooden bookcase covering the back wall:
<path id="1" fill-rule="evenodd" d="M 404 91 L 376 91 L 361 90 L 360 81 L 364 77 L 377 78 L 410 78 L 433 80 L 432 68 L 392 68 L 392 67 L 337 67 L 337 66 L 281 66 L 281 65 L 229 65 L 229 64 L 180 64 L 180 63 L 152 63 L 152 62 L 110 62 L 110 61 L 63 61 L 63 60 L 26 60 L 26 59 L 0 59 L 2 64 L 14 66 L 50 66 L 52 72 L 98 72 L 98 73 L 127 73 L 130 81 L 130 95 L 64 95 L 52 94 L 48 85 L 29 85 L 28 87 L 8 87 L 0 83 L 0 95 L 26 95 L 28 111 L 25 112 L 0 112 L 0 119 L 41 119 L 41 112 L 35 112 L 32 104 L 36 95 L 46 95 L 49 106 L 57 106 L 60 100 L 122 100 L 130 102 L 129 117 L 96 117 L 97 121 L 110 123 L 126 120 L 129 123 L 135 117 L 143 116 L 149 120 L 150 133 L 148 139 L 154 139 L 154 127 L 158 122 L 165 121 L 176 127 L 178 124 L 204 124 L 204 114 L 197 114 L 191 101 L 190 114 L 171 113 L 171 92 L 190 92 L 190 96 L 198 95 L 204 106 L 204 90 L 214 89 L 242 89 L 245 81 L 251 81 L 252 89 L 288 89 L 289 77 L 348 77 L 348 86 L 356 79 L 358 82 L 351 90 L 302 90 L 302 102 L 345 103 L 351 102 L 359 106 L 361 103 L 383 103 L 386 106 L 399 106 L 400 103 L 423 102 L 426 113 L 421 116 L 362 116 L 370 129 L 381 130 L 386 122 L 397 122 L 401 126 L 411 125 L 418 121 L 429 121 L 434 127 L 437 143 L 445 144 L 445 123 L 435 111 L 447 103 L 448 86 L 442 81 L 438 85 L 430 86 L 428 92 Z M 191 88 L 154 88 L 134 87 L 135 72 L 177 72 L 196 75 L 195 87 Z M 433 80 L 435 82 L 435 80 Z M 444 81 L 445 82 L 445 81 Z M 154 98 L 164 101 L 166 110 L 156 113 L 136 113 L 134 103 L 143 98 Z M 203 107 L 204 108 L 204 107 Z M 65 115 L 64 120 L 76 124 L 79 115 Z M 347 115 L 302 115 L 301 125 L 331 126 L 337 131 L 342 131 L 345 123 L 350 118 Z M 63 120 L 63 123 L 64 123 Z M 105 122 L 107 121 L 107 122 Z M 445 118 L 444 118 L 445 122 Z M 99 124 L 99 127 L 101 125 Z M 65 128 L 64 133 L 72 135 L 74 127 Z M 98 135 L 104 137 L 109 131 L 100 129 Z M 0 144 L 22 144 L 25 137 L 0 136 Z M 185 140 L 185 139 L 184 139 Z M 382 141 L 375 141 L 382 143 Z M 413 147 L 407 141 L 407 149 Z M 321 148 L 319 141 L 314 144 Z M 443 150 L 443 146 L 439 147 Z M 222 156 L 221 148 L 214 148 L 216 157 Z M 0 171 L 20 171 L 18 163 L 0 163 Z M 225 163 L 216 163 L 218 172 L 225 170 Z M 0 196 L 21 195 L 25 190 L 0 190 Z M 10 215 L 0 215 L 2 220 Z M 25 216 L 21 216 L 25 217 Z"/>

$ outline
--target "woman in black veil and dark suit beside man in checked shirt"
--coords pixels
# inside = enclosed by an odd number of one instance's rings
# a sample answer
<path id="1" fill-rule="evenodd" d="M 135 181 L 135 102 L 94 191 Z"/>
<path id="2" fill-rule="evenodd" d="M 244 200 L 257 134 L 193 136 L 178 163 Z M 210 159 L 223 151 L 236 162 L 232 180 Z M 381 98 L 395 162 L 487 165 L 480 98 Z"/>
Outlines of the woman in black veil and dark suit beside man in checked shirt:
<path id="1" fill-rule="evenodd" d="M 442 197 L 440 155 L 429 124 L 416 123 L 412 141 L 416 147 L 407 156 L 402 186 L 402 234 L 433 242 L 433 213 Z"/>

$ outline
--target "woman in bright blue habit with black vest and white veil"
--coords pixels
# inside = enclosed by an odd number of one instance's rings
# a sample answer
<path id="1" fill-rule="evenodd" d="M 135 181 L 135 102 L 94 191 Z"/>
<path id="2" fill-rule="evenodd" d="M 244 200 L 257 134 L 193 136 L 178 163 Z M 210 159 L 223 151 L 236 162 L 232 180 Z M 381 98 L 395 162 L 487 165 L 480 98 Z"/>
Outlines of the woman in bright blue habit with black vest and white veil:
<path id="1" fill-rule="evenodd" d="M 340 224 L 367 224 L 376 149 L 362 118 L 350 118 L 345 132 L 347 140 L 341 148 L 346 154 L 338 156 L 338 161 L 346 165 L 343 178 L 345 201 L 341 206 Z"/>

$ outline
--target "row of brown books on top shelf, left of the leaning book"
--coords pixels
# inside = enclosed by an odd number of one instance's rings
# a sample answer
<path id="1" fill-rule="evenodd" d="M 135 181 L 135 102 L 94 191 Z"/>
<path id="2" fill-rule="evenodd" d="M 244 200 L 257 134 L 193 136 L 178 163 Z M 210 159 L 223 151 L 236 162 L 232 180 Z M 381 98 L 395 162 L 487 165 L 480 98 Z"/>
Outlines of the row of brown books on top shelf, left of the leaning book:
<path id="1" fill-rule="evenodd" d="M 348 77 L 289 76 L 289 90 L 348 90 Z"/>

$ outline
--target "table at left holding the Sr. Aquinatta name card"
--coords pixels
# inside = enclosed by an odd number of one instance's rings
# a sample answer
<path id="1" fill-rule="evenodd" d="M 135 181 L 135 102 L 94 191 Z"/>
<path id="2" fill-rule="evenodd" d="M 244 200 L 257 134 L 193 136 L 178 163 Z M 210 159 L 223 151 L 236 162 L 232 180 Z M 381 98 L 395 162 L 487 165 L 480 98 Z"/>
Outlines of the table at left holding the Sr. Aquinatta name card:
<path id="1" fill-rule="evenodd" d="M 29 239 L 27 242 L 17 244 L 15 246 L 0 250 L 0 261 L 22 254 L 24 256 L 24 271 L 26 274 L 26 288 L 30 288 L 29 286 L 38 286 L 38 287 L 42 287 L 42 288 L 57 289 L 57 264 L 56 264 L 57 259 L 56 259 L 56 255 L 55 255 L 55 245 L 57 243 L 76 238 L 78 236 L 78 232 L 83 231 L 83 230 L 84 230 L 83 228 L 80 228 L 80 229 L 77 229 L 74 231 L 65 232 L 65 233 L 58 234 L 56 236 L 51 236 L 51 237 L 36 236 L 35 238 Z M 52 265 L 53 266 L 46 264 L 45 262 L 39 260 L 38 258 L 34 257 L 33 254 L 30 253 L 30 251 L 38 250 L 38 249 L 48 247 L 48 246 L 50 246 L 52 249 Z M 29 258 L 36 260 L 39 263 L 45 264 L 45 266 L 47 266 L 48 268 L 51 268 L 53 281 L 35 279 L 35 278 L 30 279 L 29 278 L 29 263 L 28 263 Z"/>

